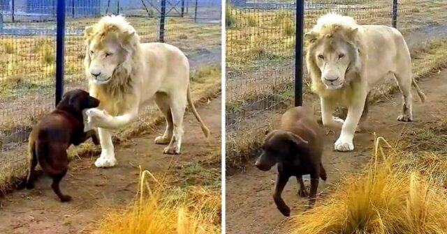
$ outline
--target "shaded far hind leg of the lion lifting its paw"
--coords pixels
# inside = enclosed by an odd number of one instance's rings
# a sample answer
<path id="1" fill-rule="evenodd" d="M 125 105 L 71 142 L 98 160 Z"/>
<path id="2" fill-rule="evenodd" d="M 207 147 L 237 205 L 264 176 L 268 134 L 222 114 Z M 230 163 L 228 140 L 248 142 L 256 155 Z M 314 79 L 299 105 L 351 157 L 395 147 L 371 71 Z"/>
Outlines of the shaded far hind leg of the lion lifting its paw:
<path id="1" fill-rule="evenodd" d="M 155 103 L 159 107 L 161 113 L 163 113 L 163 115 L 165 116 L 166 120 L 166 130 L 163 133 L 163 136 L 155 138 L 155 143 L 167 144 L 170 142 L 170 139 L 173 138 L 173 131 L 174 131 L 173 114 L 171 114 L 170 111 L 170 103 L 168 95 L 166 95 L 166 93 L 156 93 Z"/>

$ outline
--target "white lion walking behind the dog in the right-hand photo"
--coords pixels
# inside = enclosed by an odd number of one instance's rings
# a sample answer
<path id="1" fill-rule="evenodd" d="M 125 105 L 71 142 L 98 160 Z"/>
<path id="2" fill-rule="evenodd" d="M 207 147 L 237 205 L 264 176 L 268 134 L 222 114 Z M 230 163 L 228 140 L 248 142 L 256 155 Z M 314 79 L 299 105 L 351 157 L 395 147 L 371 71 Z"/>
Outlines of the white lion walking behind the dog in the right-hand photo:
<path id="1" fill-rule="evenodd" d="M 354 149 L 353 138 L 374 84 L 393 75 L 403 95 L 402 115 L 411 121 L 411 85 L 420 100 L 425 95 L 411 75 L 411 57 L 402 33 L 389 26 L 358 25 L 352 17 L 328 14 L 305 34 L 307 70 L 312 90 L 321 101 L 323 125 L 342 127 L 335 150 Z M 347 107 L 346 120 L 332 116 L 337 105 Z"/>

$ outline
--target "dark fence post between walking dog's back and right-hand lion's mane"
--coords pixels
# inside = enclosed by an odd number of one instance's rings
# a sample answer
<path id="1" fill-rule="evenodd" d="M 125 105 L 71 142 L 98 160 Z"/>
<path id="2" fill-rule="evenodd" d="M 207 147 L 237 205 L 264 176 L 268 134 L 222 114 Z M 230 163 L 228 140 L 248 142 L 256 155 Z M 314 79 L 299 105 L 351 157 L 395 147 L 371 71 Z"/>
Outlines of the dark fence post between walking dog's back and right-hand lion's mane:
<path id="1" fill-rule="evenodd" d="M 295 23 L 295 107 L 302 106 L 302 34 L 305 22 L 305 1 L 296 0 Z"/>

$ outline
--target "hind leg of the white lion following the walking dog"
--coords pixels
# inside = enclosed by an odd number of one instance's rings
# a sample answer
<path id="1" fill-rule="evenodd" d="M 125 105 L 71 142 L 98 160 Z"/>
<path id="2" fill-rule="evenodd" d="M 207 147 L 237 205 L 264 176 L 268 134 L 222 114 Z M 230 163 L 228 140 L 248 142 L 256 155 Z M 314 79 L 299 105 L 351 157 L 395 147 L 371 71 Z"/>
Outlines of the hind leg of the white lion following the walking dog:
<path id="1" fill-rule="evenodd" d="M 402 122 L 413 121 L 413 96 L 411 95 L 411 70 L 405 72 L 395 72 L 397 84 L 399 84 L 400 92 L 402 93 L 402 114 L 397 117 L 397 120 Z"/>

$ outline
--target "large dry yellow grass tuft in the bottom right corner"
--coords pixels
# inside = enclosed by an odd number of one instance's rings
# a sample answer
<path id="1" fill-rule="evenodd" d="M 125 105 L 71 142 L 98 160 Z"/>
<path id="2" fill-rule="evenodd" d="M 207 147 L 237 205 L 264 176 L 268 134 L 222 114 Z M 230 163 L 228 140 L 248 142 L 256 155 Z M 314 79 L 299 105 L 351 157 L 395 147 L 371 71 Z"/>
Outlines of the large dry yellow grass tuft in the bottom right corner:
<path id="1" fill-rule="evenodd" d="M 327 200 L 293 217 L 291 234 L 445 233 L 444 187 L 418 166 L 403 165 L 405 153 L 388 143 L 386 150 L 381 148 L 381 139 L 376 139 L 374 163 L 365 173 L 348 176 Z"/>

